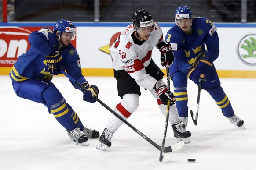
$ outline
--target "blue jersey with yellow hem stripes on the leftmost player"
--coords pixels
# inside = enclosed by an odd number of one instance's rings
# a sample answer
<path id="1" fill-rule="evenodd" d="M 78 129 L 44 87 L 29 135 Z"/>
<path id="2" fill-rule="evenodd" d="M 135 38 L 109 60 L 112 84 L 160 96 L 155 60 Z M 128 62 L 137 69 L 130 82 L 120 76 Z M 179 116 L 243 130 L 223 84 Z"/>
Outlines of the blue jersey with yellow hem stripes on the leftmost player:
<path id="1" fill-rule="evenodd" d="M 51 81 L 54 74 L 45 71 L 44 60 L 45 56 L 58 50 L 59 42 L 55 33 L 49 28 L 42 28 L 29 35 L 29 43 L 31 45 L 29 50 L 19 56 L 14 64 L 10 72 L 11 79 L 13 81 L 27 79 Z M 66 70 L 79 83 L 85 82 L 86 80 L 81 73 L 80 57 L 74 46 L 70 43 L 69 46 L 63 47 L 59 52 L 62 56 L 62 69 Z M 57 74 L 61 74 L 61 72 Z M 77 86 L 75 87 L 77 88 Z"/>

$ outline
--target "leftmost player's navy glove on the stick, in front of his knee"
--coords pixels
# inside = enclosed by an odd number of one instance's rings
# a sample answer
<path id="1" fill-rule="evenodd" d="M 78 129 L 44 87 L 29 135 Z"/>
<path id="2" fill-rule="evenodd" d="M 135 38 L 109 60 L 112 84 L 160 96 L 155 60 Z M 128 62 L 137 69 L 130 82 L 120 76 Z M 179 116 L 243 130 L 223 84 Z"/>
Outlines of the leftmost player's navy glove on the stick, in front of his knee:
<path id="1" fill-rule="evenodd" d="M 84 92 L 84 101 L 90 102 L 90 103 L 95 103 L 98 94 L 99 94 L 99 89 L 96 85 L 89 85 L 87 82 L 82 84 L 86 91 Z"/>

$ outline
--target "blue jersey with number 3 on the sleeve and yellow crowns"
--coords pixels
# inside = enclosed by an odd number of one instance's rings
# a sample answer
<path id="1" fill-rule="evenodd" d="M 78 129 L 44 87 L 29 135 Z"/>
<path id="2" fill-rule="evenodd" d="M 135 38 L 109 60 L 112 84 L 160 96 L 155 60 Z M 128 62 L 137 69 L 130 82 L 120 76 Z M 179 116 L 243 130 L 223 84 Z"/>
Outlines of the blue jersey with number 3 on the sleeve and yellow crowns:
<path id="1" fill-rule="evenodd" d="M 186 35 L 177 25 L 166 34 L 165 42 L 171 43 L 175 58 L 170 74 L 177 71 L 186 73 L 188 67 L 196 66 L 202 56 L 209 57 L 212 62 L 219 56 L 219 37 L 215 25 L 207 18 L 193 18 L 191 27 L 191 35 Z"/>

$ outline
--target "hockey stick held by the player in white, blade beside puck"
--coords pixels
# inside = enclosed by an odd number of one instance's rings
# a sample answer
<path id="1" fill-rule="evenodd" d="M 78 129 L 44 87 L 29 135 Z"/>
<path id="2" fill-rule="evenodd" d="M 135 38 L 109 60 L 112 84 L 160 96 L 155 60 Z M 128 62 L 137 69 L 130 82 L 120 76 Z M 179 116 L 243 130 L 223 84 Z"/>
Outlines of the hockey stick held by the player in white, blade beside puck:
<path id="1" fill-rule="evenodd" d="M 167 88 L 170 90 L 169 66 L 166 67 L 166 74 L 167 74 Z M 160 162 L 168 162 L 171 159 L 171 157 L 169 155 L 163 155 L 163 148 L 165 146 L 165 138 L 166 138 L 166 133 L 167 133 L 168 121 L 169 121 L 169 111 L 170 111 L 169 108 L 170 108 L 170 100 L 168 100 L 168 102 L 167 102 L 164 138 L 163 138 L 163 142 L 161 145 L 160 156 L 159 156 Z"/>

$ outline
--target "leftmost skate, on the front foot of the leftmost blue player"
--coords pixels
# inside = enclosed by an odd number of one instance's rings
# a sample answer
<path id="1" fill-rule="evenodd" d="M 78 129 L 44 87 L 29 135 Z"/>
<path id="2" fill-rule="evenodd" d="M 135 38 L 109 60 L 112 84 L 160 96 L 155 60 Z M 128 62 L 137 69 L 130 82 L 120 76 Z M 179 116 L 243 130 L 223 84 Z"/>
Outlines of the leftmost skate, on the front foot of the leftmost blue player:
<path id="1" fill-rule="evenodd" d="M 83 134 L 82 131 L 77 127 L 72 131 L 67 130 L 69 138 L 77 145 L 88 146 L 88 138 Z"/>

